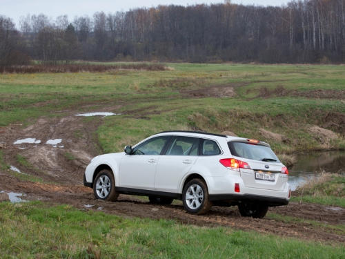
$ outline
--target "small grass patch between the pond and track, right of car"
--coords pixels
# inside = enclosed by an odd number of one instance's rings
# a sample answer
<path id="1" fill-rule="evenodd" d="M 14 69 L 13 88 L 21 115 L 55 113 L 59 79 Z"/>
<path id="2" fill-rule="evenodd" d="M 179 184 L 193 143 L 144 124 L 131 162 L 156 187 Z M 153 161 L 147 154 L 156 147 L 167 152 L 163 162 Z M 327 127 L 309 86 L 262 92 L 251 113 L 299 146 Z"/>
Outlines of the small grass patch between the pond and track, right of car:
<path id="1" fill-rule="evenodd" d="M 333 205 L 345 208 L 345 175 L 325 174 L 297 189 L 291 201 Z"/>

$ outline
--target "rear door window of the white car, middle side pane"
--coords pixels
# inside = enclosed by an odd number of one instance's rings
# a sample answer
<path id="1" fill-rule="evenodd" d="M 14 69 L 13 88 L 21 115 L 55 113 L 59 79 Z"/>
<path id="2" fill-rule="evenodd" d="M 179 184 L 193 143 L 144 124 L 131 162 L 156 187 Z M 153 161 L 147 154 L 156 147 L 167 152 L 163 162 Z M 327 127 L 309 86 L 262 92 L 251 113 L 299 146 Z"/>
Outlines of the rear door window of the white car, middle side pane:
<path id="1" fill-rule="evenodd" d="M 199 139 L 196 137 L 175 137 L 166 155 L 197 155 Z"/>

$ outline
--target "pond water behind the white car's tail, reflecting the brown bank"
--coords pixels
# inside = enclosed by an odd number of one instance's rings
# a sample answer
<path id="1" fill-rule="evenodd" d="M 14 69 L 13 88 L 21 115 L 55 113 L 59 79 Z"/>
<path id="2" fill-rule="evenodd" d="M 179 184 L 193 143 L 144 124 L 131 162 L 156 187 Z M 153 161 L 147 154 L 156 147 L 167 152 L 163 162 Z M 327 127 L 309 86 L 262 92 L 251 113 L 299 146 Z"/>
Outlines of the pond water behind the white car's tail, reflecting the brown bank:
<path id="1" fill-rule="evenodd" d="M 315 152 L 297 155 L 297 162 L 289 169 L 288 182 L 295 191 L 297 186 L 311 178 L 317 177 L 322 171 L 327 173 L 345 173 L 345 151 Z"/>

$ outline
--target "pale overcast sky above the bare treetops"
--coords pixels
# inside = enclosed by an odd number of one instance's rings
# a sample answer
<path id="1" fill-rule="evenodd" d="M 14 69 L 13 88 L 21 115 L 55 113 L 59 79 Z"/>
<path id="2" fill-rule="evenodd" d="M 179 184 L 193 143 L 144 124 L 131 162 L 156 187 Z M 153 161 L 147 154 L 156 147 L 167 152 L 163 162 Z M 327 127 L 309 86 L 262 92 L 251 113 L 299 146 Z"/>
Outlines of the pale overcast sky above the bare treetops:
<path id="1" fill-rule="evenodd" d="M 223 3 L 222 0 L 0 0 L 0 15 L 11 17 L 18 25 L 19 17 L 43 13 L 55 19 L 59 15 L 68 15 L 72 20 L 75 16 L 89 15 L 95 12 L 126 11 L 130 8 L 152 7 L 158 5 L 191 6 L 196 3 Z M 282 6 L 288 0 L 232 0 L 232 3 L 255 4 L 257 6 Z"/>

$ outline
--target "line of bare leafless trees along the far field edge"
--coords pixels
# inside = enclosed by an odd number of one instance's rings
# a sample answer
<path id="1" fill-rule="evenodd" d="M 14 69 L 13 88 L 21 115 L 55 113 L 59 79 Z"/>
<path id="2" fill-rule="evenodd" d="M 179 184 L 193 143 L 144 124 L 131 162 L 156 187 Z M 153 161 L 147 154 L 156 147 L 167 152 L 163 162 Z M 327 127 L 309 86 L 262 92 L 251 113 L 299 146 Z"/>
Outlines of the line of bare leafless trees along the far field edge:
<path id="1" fill-rule="evenodd" d="M 290 1 L 286 6 L 158 6 L 93 17 L 0 16 L 0 65 L 30 59 L 345 61 L 345 0 Z"/>

